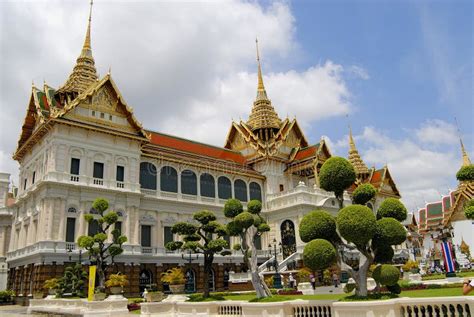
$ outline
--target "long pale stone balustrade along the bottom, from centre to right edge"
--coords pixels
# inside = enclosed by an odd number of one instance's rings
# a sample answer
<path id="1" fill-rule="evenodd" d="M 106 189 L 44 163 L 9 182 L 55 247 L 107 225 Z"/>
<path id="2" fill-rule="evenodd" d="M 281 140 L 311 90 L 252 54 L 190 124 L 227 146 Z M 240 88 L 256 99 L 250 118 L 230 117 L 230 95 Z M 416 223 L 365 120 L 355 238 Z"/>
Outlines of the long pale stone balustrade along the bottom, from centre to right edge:
<path id="1" fill-rule="evenodd" d="M 474 297 L 397 298 L 360 302 L 294 300 L 274 303 L 142 303 L 141 311 L 142 316 L 150 317 L 464 317 L 473 315 Z"/>

